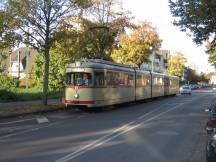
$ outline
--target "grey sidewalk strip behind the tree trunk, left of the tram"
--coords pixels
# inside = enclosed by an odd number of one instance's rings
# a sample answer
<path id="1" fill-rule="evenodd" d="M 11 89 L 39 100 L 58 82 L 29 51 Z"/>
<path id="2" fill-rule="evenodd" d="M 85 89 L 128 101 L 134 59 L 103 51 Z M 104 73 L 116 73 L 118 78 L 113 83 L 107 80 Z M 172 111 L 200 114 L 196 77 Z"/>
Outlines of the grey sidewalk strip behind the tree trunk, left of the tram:
<path id="1" fill-rule="evenodd" d="M 61 103 L 60 99 L 48 100 L 48 104 L 60 104 L 60 103 Z M 41 105 L 41 104 L 42 104 L 42 100 L 6 102 L 6 103 L 0 103 L 0 110 L 24 108 L 29 106 Z"/>

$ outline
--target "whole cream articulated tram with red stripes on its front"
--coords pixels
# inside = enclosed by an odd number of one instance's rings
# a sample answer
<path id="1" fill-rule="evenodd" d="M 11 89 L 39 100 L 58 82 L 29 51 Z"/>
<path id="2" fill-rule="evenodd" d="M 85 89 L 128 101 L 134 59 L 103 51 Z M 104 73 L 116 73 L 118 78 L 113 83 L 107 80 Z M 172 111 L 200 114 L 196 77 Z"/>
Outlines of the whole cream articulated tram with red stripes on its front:
<path id="1" fill-rule="evenodd" d="M 179 93 L 179 78 L 100 59 L 66 66 L 67 106 L 103 107 Z"/>

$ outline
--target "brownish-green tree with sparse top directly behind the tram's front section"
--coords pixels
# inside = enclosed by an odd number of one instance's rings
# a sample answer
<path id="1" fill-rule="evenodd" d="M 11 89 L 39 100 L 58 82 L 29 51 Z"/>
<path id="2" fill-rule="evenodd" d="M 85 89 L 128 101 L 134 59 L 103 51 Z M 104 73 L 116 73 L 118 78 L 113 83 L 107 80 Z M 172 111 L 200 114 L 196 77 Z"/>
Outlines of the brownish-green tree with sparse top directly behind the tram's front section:
<path id="1" fill-rule="evenodd" d="M 78 52 L 83 58 L 111 60 L 116 37 L 125 28 L 133 26 L 131 18 L 130 12 L 123 11 L 116 0 L 92 0 L 92 5 L 85 12 L 68 17 L 64 26 L 71 26 L 67 30 L 79 32 Z"/>

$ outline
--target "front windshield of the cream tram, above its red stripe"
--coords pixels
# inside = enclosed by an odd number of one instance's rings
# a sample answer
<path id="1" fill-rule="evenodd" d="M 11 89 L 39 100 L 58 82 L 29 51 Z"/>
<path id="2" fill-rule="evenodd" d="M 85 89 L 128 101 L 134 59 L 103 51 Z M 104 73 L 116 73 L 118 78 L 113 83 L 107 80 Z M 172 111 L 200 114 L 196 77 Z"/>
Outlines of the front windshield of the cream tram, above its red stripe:
<path id="1" fill-rule="evenodd" d="M 89 86 L 92 85 L 92 76 L 90 73 L 67 73 L 67 85 Z"/>

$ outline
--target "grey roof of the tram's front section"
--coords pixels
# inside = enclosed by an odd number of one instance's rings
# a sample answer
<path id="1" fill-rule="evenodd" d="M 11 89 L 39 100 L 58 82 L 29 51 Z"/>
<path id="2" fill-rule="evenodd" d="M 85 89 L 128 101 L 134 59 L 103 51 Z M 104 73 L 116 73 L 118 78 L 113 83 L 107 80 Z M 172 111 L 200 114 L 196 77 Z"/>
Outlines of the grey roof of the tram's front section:
<path id="1" fill-rule="evenodd" d="M 74 63 L 67 64 L 66 68 L 109 68 L 109 67 L 121 67 L 132 69 L 130 65 L 124 65 L 119 63 L 114 63 L 111 61 L 105 61 L 102 59 L 89 59 L 76 61 Z"/>

